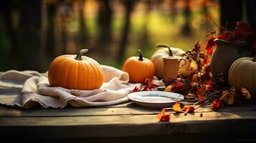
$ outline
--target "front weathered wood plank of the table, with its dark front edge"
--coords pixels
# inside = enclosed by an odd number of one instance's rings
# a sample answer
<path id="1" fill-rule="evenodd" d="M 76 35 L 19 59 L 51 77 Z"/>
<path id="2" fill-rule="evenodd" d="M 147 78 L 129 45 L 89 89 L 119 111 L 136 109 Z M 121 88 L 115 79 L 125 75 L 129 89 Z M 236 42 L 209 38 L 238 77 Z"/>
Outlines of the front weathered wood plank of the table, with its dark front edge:
<path id="1" fill-rule="evenodd" d="M 256 114 L 250 112 L 206 112 L 171 114 L 171 122 L 158 122 L 156 115 L 105 117 L 1 117 L 0 136 L 68 139 L 85 137 L 129 137 L 174 133 L 256 132 Z M 16 137 L 16 136 L 15 136 Z"/>

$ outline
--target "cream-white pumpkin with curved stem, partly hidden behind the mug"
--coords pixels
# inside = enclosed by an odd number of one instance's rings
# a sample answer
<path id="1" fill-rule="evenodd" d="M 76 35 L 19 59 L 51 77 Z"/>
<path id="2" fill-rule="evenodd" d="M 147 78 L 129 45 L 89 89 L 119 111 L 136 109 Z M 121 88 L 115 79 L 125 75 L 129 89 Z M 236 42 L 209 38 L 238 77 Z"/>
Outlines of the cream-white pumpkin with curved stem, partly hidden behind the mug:
<path id="1" fill-rule="evenodd" d="M 173 48 L 173 47 L 169 47 L 169 46 L 164 46 L 161 45 L 159 47 L 163 47 L 162 49 L 158 49 L 157 51 L 155 51 L 153 53 L 153 55 L 151 56 L 151 61 L 153 62 L 153 65 L 155 66 L 155 74 L 156 77 L 158 77 L 158 79 L 162 79 L 163 78 L 163 56 L 176 56 L 178 58 L 182 58 L 183 54 L 185 54 L 186 52 L 183 51 L 182 49 L 179 48 Z M 172 55 L 170 54 L 170 51 Z M 183 65 L 184 61 L 180 62 L 180 65 Z M 179 73 L 181 74 L 188 74 L 189 71 L 189 60 L 186 61 L 186 65 L 181 66 L 181 68 L 179 68 Z"/>

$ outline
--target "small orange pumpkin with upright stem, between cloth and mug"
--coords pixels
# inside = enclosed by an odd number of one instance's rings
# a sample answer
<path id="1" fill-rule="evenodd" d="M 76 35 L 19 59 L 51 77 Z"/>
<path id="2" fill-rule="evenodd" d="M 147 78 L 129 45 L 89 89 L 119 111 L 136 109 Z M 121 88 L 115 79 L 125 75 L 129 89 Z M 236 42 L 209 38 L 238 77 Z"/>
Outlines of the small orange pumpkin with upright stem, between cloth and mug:
<path id="1" fill-rule="evenodd" d="M 129 80 L 133 83 L 144 82 L 145 79 L 153 79 L 155 67 L 150 59 L 143 58 L 141 50 L 139 56 L 131 56 L 123 64 L 123 71 L 129 74 Z"/>

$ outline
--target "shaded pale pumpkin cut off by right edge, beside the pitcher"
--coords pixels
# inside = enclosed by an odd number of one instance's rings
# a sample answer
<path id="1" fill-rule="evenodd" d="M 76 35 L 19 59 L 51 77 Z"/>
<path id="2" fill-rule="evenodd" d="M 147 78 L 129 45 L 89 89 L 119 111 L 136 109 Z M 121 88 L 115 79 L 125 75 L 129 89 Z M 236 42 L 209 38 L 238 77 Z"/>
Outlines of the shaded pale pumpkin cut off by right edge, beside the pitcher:
<path id="1" fill-rule="evenodd" d="M 244 87 L 256 98 L 256 56 L 243 57 L 233 62 L 229 69 L 229 85 L 236 89 Z"/>

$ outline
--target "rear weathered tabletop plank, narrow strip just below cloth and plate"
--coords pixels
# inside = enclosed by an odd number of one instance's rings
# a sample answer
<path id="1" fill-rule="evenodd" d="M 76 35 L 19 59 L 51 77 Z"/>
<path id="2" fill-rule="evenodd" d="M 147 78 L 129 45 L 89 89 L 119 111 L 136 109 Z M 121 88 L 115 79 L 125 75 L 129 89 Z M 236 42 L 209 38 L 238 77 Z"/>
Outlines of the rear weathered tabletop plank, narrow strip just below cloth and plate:
<path id="1" fill-rule="evenodd" d="M 245 104 L 237 107 L 224 107 L 219 112 L 255 111 L 256 104 Z M 110 116 L 110 115 L 136 115 L 136 114 L 158 114 L 161 109 L 148 109 L 145 107 L 82 107 L 65 109 L 0 109 L 0 117 L 86 117 L 86 116 Z M 172 110 L 167 112 L 174 113 Z M 202 112 L 198 108 L 195 112 Z M 212 112 L 204 109 L 203 112 Z"/>

